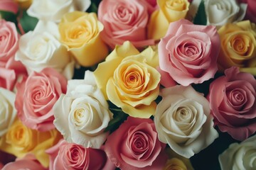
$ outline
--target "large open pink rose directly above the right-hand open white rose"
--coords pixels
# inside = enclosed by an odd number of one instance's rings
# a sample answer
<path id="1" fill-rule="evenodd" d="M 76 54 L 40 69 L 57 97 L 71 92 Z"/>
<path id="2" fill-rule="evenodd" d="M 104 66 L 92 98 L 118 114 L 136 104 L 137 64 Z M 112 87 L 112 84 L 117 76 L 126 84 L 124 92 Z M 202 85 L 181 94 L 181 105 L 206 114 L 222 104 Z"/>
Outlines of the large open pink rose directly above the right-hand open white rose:
<path id="1" fill-rule="evenodd" d="M 165 81 L 178 84 L 201 84 L 217 72 L 220 38 L 215 26 L 193 25 L 181 19 L 170 23 L 159 42 L 159 66 L 169 74 Z"/>

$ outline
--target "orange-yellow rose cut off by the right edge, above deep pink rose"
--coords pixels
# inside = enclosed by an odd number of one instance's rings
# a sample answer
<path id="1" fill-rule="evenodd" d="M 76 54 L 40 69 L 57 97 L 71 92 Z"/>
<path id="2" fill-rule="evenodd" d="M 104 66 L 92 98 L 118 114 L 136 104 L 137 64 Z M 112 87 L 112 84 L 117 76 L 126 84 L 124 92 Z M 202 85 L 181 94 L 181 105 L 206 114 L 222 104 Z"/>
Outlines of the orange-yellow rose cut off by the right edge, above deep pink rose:
<path id="1" fill-rule="evenodd" d="M 240 67 L 241 72 L 256 75 L 256 29 L 255 23 L 241 21 L 228 23 L 218 30 L 221 50 L 219 69 Z"/>

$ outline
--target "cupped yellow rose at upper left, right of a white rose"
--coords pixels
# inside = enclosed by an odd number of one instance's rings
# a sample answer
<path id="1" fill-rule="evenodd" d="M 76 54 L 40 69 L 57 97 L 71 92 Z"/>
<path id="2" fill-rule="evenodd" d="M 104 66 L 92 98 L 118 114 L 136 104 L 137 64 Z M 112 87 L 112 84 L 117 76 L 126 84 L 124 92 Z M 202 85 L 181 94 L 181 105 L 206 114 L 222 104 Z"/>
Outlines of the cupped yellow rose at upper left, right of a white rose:
<path id="1" fill-rule="evenodd" d="M 79 64 L 91 67 L 104 60 L 108 53 L 107 45 L 100 39 L 103 28 L 96 13 L 66 13 L 59 23 L 60 42 Z"/>

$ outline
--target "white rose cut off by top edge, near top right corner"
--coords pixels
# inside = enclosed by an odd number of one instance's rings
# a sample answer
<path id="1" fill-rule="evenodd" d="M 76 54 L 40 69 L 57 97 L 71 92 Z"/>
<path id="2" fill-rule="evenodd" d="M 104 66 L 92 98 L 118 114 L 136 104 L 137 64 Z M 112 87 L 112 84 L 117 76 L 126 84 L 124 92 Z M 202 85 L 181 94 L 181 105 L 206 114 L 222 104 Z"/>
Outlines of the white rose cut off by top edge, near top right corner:
<path id="1" fill-rule="evenodd" d="M 207 25 L 223 26 L 226 23 L 242 21 L 247 4 L 238 4 L 236 0 L 205 0 Z"/>

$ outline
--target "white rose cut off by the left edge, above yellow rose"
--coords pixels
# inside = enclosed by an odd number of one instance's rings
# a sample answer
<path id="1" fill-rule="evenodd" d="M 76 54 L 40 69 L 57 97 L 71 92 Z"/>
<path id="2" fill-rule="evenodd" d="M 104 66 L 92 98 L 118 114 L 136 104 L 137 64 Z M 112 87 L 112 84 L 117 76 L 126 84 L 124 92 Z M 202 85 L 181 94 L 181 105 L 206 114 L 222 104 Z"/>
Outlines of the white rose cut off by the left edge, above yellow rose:
<path id="1" fill-rule="evenodd" d="M 0 138 L 3 136 L 16 118 L 14 108 L 15 94 L 0 88 Z"/>

